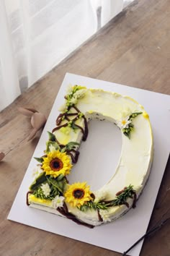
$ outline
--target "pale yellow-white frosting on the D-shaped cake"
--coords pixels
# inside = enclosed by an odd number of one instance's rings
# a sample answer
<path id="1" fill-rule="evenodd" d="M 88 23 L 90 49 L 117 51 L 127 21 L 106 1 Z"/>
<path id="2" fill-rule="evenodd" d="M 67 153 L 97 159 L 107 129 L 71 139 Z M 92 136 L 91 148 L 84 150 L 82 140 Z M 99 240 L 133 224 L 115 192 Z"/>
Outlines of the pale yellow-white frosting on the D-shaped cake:
<path id="1" fill-rule="evenodd" d="M 117 125 L 120 124 L 122 119 L 126 119 L 127 116 L 130 116 L 130 114 L 143 112 L 143 114 L 139 114 L 133 119 L 134 130 L 130 133 L 130 139 L 126 137 L 121 130 L 122 153 L 115 174 L 107 184 L 94 192 L 96 202 L 97 200 L 113 200 L 117 192 L 131 184 L 133 185 L 133 189 L 137 192 L 138 198 L 148 179 L 153 160 L 153 135 L 151 124 L 143 106 L 127 96 L 103 90 L 90 89 L 86 90 L 84 97 L 77 101 L 76 107 L 85 114 L 87 120 L 94 118 L 106 119 Z M 76 123 L 84 127 L 84 121 L 82 119 L 78 119 Z M 64 132 L 62 129 L 59 129 L 55 131 L 54 134 L 61 144 L 73 141 L 81 142 L 82 139 L 81 130 L 76 129 L 75 132 L 70 127 L 64 129 Z M 127 202 L 131 208 L 133 199 L 128 198 Z M 31 199 L 30 204 L 34 208 L 48 210 L 51 213 L 61 215 L 57 210 L 54 211 L 52 204 L 43 206 L 45 205 L 43 202 L 37 202 Z M 99 214 L 103 219 L 102 222 L 99 221 L 98 213 L 95 210 L 83 212 L 78 208 L 72 208 L 68 203 L 67 206 L 68 211 L 73 213 L 80 221 L 94 226 L 115 220 L 129 210 L 126 205 L 114 206 L 108 210 L 99 210 Z"/>

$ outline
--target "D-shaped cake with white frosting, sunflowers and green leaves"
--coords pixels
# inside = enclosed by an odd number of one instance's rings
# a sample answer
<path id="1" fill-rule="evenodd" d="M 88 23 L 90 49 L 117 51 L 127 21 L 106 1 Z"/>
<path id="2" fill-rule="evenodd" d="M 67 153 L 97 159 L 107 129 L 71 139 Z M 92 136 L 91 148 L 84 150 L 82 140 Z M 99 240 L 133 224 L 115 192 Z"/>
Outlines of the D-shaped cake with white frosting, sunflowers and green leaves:
<path id="1" fill-rule="evenodd" d="M 128 96 L 74 85 L 60 111 L 56 127 L 48 132 L 45 153 L 35 158 L 39 163 L 27 205 L 90 228 L 135 208 L 153 161 L 151 123 L 143 106 Z M 88 137 L 88 122 L 95 118 L 120 128 L 122 152 L 112 178 L 91 191 L 86 182 L 69 184 L 68 180 L 79 158 L 79 145 Z"/>

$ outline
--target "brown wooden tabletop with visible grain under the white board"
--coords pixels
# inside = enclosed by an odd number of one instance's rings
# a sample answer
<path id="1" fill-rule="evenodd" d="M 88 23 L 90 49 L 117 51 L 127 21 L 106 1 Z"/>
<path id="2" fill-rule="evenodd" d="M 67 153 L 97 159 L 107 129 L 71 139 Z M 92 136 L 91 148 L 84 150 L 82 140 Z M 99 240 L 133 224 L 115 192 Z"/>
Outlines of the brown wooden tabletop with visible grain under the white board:
<path id="1" fill-rule="evenodd" d="M 30 119 L 17 111 L 32 107 L 48 117 L 66 72 L 170 94 L 170 1 L 139 0 L 111 20 L 11 106 L 0 113 L 0 255 L 118 256 L 94 247 L 7 221 L 41 131 L 27 142 Z M 170 205 L 170 161 L 158 193 L 150 226 Z M 170 223 L 146 239 L 141 256 L 170 255 Z"/>

